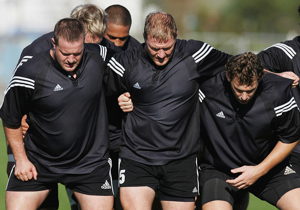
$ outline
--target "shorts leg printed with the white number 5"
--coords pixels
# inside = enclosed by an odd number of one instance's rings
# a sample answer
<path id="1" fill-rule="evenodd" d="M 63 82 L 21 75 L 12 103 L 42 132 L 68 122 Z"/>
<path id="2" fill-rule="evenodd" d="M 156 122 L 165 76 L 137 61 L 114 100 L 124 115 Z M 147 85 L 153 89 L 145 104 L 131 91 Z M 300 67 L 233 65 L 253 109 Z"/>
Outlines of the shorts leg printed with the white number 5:
<path id="1" fill-rule="evenodd" d="M 158 166 L 146 165 L 127 158 L 119 159 L 119 186 L 158 186 Z"/>

